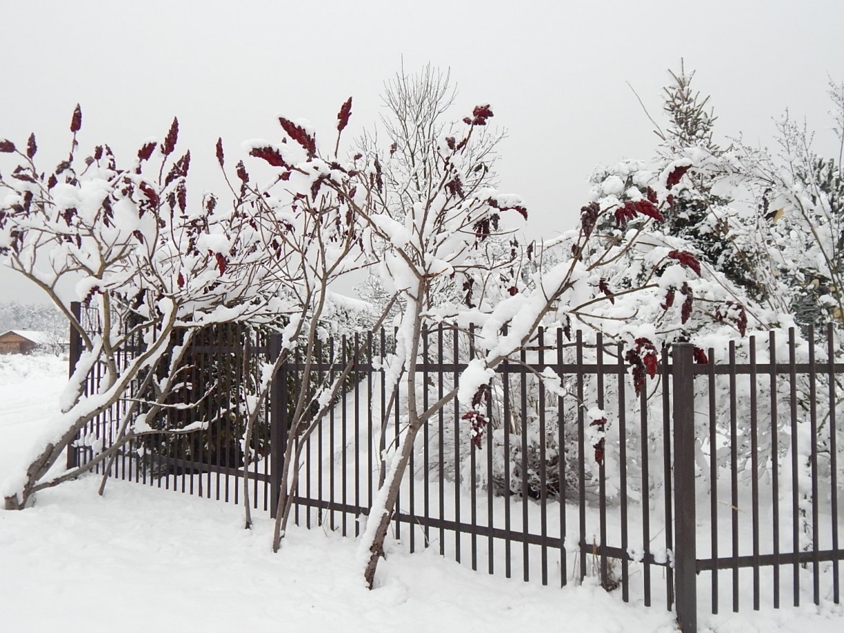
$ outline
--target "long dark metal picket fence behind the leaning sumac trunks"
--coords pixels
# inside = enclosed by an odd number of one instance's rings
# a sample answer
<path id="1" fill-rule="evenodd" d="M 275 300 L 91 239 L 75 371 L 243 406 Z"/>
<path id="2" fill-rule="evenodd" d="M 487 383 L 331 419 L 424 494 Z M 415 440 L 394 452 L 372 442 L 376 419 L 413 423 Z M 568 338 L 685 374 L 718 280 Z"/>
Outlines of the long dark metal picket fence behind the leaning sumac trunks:
<path id="1" fill-rule="evenodd" d="M 705 350 L 706 358 L 675 345 L 636 386 L 637 364 L 621 346 L 540 330 L 532 347 L 500 365 L 487 428 L 473 428 L 456 398 L 425 425 L 393 534 L 411 551 L 436 548 L 525 581 L 565 586 L 598 576 L 625 601 L 676 609 L 683 630 L 695 630 L 698 603 L 712 613 L 763 601 L 840 603 L 844 365 L 835 362 L 831 328 L 825 334 L 817 349 L 799 348 L 794 333 L 787 341 L 771 333 Z M 242 362 L 243 335 L 224 326 L 197 340 L 193 388 L 217 388 L 154 428 L 203 416 L 214 423 L 133 441 L 112 476 L 241 502 L 244 428 L 230 394 L 244 371 L 257 371 Z M 392 392 L 381 368 L 392 337 L 327 338 L 310 376 L 301 375 L 300 354 L 283 366 L 252 437 L 254 507 L 274 513 L 284 447 L 300 441 L 285 427 L 291 387 L 338 375 L 360 351 L 342 398 L 302 447 L 293 518 L 361 533 L 384 457 L 403 441 L 405 387 Z M 252 354 L 272 360 L 280 343 L 252 333 Z M 441 398 L 473 353 L 471 333 L 427 330 L 419 398 Z M 89 390 L 99 377 L 95 368 Z M 68 464 L 110 446 L 122 408 L 80 434 Z"/>

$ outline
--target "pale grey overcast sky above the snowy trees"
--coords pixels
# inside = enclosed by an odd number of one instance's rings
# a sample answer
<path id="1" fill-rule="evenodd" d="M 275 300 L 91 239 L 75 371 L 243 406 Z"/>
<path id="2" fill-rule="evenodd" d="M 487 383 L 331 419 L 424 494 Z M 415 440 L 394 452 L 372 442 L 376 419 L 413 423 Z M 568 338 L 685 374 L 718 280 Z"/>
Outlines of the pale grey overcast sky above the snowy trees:
<path id="1" fill-rule="evenodd" d="M 327 134 L 349 95 L 357 133 L 402 60 L 408 73 L 450 68 L 455 118 L 490 103 L 506 127 L 500 188 L 527 202 L 530 237 L 571 228 L 595 165 L 652 156 L 627 82 L 662 123 L 661 87 L 684 57 L 722 137 L 771 143 L 788 107 L 833 154 L 826 84 L 844 80 L 841 0 L 3 0 L 0 19 L 0 138 L 35 131 L 45 168 L 67 153 L 77 102 L 82 148 L 109 143 L 118 160 L 178 116 L 199 176 L 216 168 L 218 136 L 231 149 L 279 138 L 279 113 Z M 41 300 L 18 278 L 0 267 L 0 301 Z"/>

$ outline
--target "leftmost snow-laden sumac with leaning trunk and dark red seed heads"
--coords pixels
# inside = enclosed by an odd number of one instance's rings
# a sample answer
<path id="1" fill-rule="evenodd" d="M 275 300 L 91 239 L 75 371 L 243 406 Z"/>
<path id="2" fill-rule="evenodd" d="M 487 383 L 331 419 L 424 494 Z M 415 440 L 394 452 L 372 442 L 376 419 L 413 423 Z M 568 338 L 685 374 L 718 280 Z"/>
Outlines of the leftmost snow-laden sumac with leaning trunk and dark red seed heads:
<path id="1" fill-rule="evenodd" d="M 338 133 L 350 106 L 351 100 L 338 116 Z M 360 235 L 347 209 L 331 202 L 349 197 L 348 190 L 319 195 L 323 182 L 333 182 L 333 166 L 317 159 L 313 138 L 284 117 L 279 122 L 295 147 L 252 142 L 246 149 L 288 169 L 263 187 L 241 161 L 235 167 L 237 184 L 227 178 L 230 204 L 210 193 L 191 197 L 191 154 L 177 159 L 174 154 L 176 119 L 162 143 L 143 143 L 127 167 L 117 165 L 107 145 L 79 156 L 78 107 L 68 160 L 51 172 L 35 165 L 35 134 L 24 148 L 0 141 L 0 154 L 17 159 L 14 169 L 3 170 L 8 176 L 0 176 L 0 257 L 46 290 L 84 348 L 62 399 L 64 413 L 45 430 L 28 472 L 3 485 L 8 507 L 23 506 L 35 491 L 113 458 L 135 437 L 212 425 L 214 418 L 176 429 L 150 424 L 165 409 L 191 406 L 214 390 L 214 385 L 202 393 L 193 390 L 186 373 L 190 365 L 184 362 L 192 338 L 204 327 L 245 322 L 281 327 L 283 353 L 276 367 L 262 367 L 260 379 L 236 394 L 241 414 L 246 407 L 250 419 L 260 405 L 252 394 L 260 401 L 286 354 L 297 344 L 313 343 L 332 303 L 327 286 L 354 267 L 346 262 L 360 256 Z M 223 168 L 222 141 L 216 155 Z M 78 300 L 94 307 L 98 327 L 84 327 L 57 295 L 57 284 L 65 279 L 75 282 Z M 95 392 L 86 394 L 85 377 L 95 365 L 103 368 L 103 377 Z M 42 480 L 78 430 L 118 401 L 127 404 L 114 445 L 84 467 Z"/>

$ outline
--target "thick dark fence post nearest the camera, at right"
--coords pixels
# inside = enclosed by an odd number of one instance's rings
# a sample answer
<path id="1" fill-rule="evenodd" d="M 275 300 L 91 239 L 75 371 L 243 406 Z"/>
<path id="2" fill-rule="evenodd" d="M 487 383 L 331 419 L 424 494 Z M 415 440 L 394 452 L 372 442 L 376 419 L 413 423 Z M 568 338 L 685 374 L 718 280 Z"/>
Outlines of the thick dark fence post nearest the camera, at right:
<path id="1" fill-rule="evenodd" d="M 674 396 L 674 604 L 680 630 L 683 633 L 695 633 L 697 549 L 694 348 L 688 343 L 674 344 L 671 360 Z"/>

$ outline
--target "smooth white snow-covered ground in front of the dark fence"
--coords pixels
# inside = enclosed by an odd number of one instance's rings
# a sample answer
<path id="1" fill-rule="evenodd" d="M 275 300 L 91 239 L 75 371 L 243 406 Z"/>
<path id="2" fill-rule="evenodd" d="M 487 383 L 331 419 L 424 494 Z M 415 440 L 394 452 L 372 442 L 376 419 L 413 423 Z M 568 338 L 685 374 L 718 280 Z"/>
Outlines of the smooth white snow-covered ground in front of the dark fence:
<path id="1" fill-rule="evenodd" d="M 0 479 L 18 449 L 55 412 L 66 365 L 0 356 Z M 355 542 L 294 527 L 268 548 L 257 513 L 143 485 L 85 477 L 38 495 L 35 507 L 0 511 L 0 630 L 674 630 L 674 616 L 621 602 L 594 585 L 539 587 L 473 572 L 433 552 L 395 552 L 363 587 Z M 701 614 L 701 630 L 844 628 L 844 609 Z"/>

